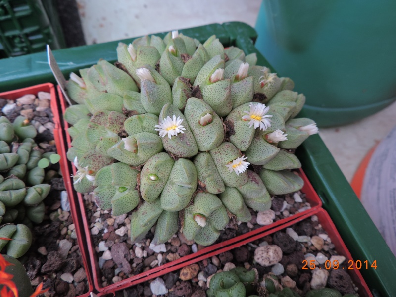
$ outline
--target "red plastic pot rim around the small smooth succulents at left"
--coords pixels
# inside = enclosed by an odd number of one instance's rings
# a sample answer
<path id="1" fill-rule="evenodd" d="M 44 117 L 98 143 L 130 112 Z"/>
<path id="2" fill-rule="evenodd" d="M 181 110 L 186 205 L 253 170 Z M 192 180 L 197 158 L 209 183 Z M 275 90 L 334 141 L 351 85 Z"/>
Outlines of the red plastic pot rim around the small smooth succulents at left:
<path id="1" fill-rule="evenodd" d="M 69 166 L 66 156 L 65 156 L 65 137 L 63 135 L 63 129 L 61 126 L 60 122 L 60 107 L 59 107 L 59 102 L 56 94 L 56 89 L 55 86 L 51 83 L 46 83 L 46 84 L 40 84 L 32 87 L 27 87 L 23 89 L 18 89 L 18 90 L 13 90 L 13 91 L 8 91 L 4 93 L 0 93 L 0 98 L 3 99 L 8 99 L 8 100 L 15 100 L 18 99 L 26 94 L 37 94 L 38 92 L 48 92 L 51 95 L 51 100 L 50 100 L 50 106 L 51 106 L 51 111 L 53 114 L 53 122 L 55 124 L 55 128 L 53 129 L 53 136 L 55 140 L 55 146 L 56 150 L 59 155 L 61 155 L 61 159 L 59 161 L 60 169 L 62 171 L 62 174 L 65 174 L 67 172 L 67 167 Z M 65 177 L 63 175 L 63 177 Z M 67 182 L 70 183 L 70 179 L 64 178 L 65 182 L 65 187 L 67 190 L 67 193 L 70 193 L 70 186 L 67 185 Z M 72 186 L 71 186 L 72 187 Z M 83 259 L 83 267 L 85 269 L 85 272 L 87 274 L 87 280 L 88 280 L 88 292 L 80 295 L 79 297 L 87 297 L 90 296 L 90 292 L 93 290 L 93 282 L 92 282 L 92 276 L 91 276 L 91 269 L 88 264 L 88 256 L 87 256 L 87 251 L 86 251 L 86 245 L 85 245 L 85 236 L 82 233 L 82 224 L 81 224 L 81 217 L 80 217 L 80 210 L 77 210 L 77 204 L 76 200 L 73 199 L 74 196 L 68 196 L 69 198 L 69 203 L 70 203 L 70 213 L 74 222 L 74 225 L 76 227 L 76 233 L 77 233 L 77 242 L 80 247 L 81 251 L 81 256 Z"/>

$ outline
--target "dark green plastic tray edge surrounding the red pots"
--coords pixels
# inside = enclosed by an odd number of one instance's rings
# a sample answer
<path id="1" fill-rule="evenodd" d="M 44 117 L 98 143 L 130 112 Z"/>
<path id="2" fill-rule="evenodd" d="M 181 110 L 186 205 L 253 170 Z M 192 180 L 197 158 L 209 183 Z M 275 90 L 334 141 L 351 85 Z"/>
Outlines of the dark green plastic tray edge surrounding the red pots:
<path id="1" fill-rule="evenodd" d="M 254 47 L 256 31 L 247 24 L 231 22 L 180 30 L 183 34 L 203 42 L 215 34 L 225 46 L 236 46 L 246 53 L 255 52 L 259 65 L 274 69 Z M 163 37 L 165 33 L 156 34 Z M 125 43 L 133 39 L 123 40 Z M 67 77 L 71 71 L 89 67 L 103 58 L 116 60 L 118 42 L 53 51 Z M 47 65 L 45 53 L 0 60 L 0 92 L 43 82 L 55 82 Z M 304 116 L 304 110 L 300 116 Z M 361 269 L 374 296 L 394 297 L 396 292 L 396 258 L 354 194 L 334 158 L 319 135 L 308 138 L 297 156 L 306 175 L 323 201 L 354 260 L 377 261 L 377 269 Z"/>

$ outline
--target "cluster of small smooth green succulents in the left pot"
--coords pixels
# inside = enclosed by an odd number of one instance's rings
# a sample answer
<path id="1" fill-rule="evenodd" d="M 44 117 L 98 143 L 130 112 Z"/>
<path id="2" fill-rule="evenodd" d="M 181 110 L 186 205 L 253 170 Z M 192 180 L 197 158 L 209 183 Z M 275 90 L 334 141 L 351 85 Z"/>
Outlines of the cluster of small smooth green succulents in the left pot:
<path id="1" fill-rule="evenodd" d="M 32 243 L 29 227 L 44 219 L 45 167 L 59 155 L 44 153 L 34 141 L 36 128 L 23 116 L 11 122 L 0 117 L 0 251 L 18 258 Z M 47 164 L 48 163 L 48 164 Z"/>

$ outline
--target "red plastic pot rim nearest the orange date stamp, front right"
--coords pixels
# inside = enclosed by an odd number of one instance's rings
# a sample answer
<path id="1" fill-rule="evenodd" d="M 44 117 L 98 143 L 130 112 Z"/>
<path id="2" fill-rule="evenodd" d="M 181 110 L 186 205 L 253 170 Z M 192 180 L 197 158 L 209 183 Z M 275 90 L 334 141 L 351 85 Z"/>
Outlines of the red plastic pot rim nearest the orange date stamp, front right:
<path id="1" fill-rule="evenodd" d="M 306 213 L 292 221 L 289 221 L 286 224 L 283 224 L 283 225 L 273 228 L 271 230 L 267 230 L 265 232 L 257 234 L 253 237 L 250 237 L 250 238 L 240 241 L 238 243 L 234 243 L 227 247 L 217 249 L 216 251 L 212 251 L 207 254 L 197 256 L 194 259 L 191 259 L 184 263 L 176 264 L 172 267 L 163 269 L 162 271 L 159 271 L 154 274 L 143 277 L 137 281 L 131 282 L 130 286 L 137 285 L 139 283 L 143 283 L 143 282 L 149 281 L 151 279 L 155 279 L 157 277 L 163 276 L 163 275 L 173 272 L 173 271 L 179 271 L 183 267 L 189 266 L 194 263 L 198 263 L 204 259 L 209 259 L 212 256 L 219 255 L 220 253 L 223 253 L 226 251 L 232 251 L 233 249 L 235 249 L 237 247 L 247 245 L 247 244 L 252 243 L 256 240 L 263 239 L 264 237 L 266 237 L 268 235 L 274 234 L 275 232 L 278 232 L 278 231 L 284 230 L 288 227 L 291 227 L 294 224 L 297 224 L 297 223 L 299 223 L 313 215 L 316 215 L 318 217 L 318 222 L 322 225 L 322 228 L 326 231 L 327 235 L 330 237 L 331 243 L 334 244 L 334 246 L 335 246 L 334 249 L 337 251 L 337 254 L 345 256 L 345 258 L 346 258 L 345 263 L 347 263 L 347 272 L 350 275 L 353 283 L 358 287 L 359 290 L 357 293 L 359 293 L 359 296 L 360 297 L 373 297 L 366 282 L 364 281 L 364 279 L 360 273 L 360 269 L 366 269 L 365 265 L 364 264 L 360 265 L 360 263 L 359 263 L 358 264 L 359 269 L 356 266 L 356 262 L 358 262 L 358 260 L 360 260 L 361 263 L 364 263 L 364 261 L 366 259 L 353 259 L 352 258 L 347 246 L 344 244 L 340 234 L 338 233 L 336 226 L 334 225 L 333 221 L 331 220 L 329 214 L 323 208 L 312 209 L 310 212 L 308 212 L 308 213 Z M 309 266 L 309 263 L 307 266 Z M 329 272 L 330 272 L 330 269 L 334 269 L 334 268 L 331 268 L 330 265 L 328 267 L 329 267 L 329 269 L 328 269 Z M 305 267 L 305 268 L 307 268 L 307 267 Z M 310 271 L 309 269 L 310 268 L 307 268 L 306 271 Z M 326 269 L 327 269 L 327 267 L 326 267 Z M 371 268 L 370 265 L 368 265 L 368 269 L 374 269 L 374 268 Z M 106 289 L 110 289 L 109 287 L 106 287 Z M 109 296 L 108 294 L 115 294 L 115 291 L 118 291 L 121 289 L 125 289 L 125 287 L 120 286 L 119 288 L 111 288 L 111 290 L 104 290 L 104 291 L 100 292 L 98 294 L 98 296 Z"/>

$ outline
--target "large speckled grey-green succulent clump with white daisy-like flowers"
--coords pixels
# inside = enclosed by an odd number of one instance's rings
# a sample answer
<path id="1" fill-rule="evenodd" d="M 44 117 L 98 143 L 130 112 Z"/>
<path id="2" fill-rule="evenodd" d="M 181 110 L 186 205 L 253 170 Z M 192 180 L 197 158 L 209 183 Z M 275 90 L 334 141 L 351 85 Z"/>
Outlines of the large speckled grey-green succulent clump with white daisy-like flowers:
<path id="1" fill-rule="evenodd" d="M 137 209 L 133 242 L 156 224 L 154 244 L 181 229 L 210 245 L 229 217 L 247 222 L 248 207 L 268 210 L 270 195 L 301 189 L 293 151 L 318 130 L 295 118 L 305 97 L 291 79 L 215 36 L 145 36 L 117 54 L 115 66 L 100 60 L 70 75 L 78 104 L 64 115 L 67 157 L 76 191 L 115 216 Z"/>

